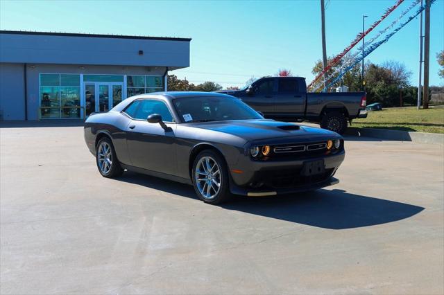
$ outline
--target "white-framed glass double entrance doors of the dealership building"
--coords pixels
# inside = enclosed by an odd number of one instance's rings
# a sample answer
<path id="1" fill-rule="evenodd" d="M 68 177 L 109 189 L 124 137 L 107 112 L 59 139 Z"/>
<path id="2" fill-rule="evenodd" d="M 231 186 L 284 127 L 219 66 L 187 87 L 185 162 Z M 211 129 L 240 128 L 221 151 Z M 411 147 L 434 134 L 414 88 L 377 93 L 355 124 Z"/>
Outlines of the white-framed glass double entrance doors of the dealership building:
<path id="1" fill-rule="evenodd" d="M 122 101 L 123 83 L 85 82 L 86 116 L 92 112 L 109 111 Z"/>

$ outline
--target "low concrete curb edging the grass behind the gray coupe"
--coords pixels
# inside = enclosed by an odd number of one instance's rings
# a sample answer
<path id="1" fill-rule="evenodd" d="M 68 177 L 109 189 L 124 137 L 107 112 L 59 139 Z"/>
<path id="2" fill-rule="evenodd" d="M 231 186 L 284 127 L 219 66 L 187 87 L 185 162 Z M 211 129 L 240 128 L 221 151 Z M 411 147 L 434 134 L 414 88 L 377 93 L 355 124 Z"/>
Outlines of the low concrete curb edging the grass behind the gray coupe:
<path id="1" fill-rule="evenodd" d="M 412 141 L 414 143 L 432 143 L 444 145 L 444 134 L 437 133 L 348 127 L 345 134 L 352 136 L 376 137 L 385 139 L 387 141 Z"/>

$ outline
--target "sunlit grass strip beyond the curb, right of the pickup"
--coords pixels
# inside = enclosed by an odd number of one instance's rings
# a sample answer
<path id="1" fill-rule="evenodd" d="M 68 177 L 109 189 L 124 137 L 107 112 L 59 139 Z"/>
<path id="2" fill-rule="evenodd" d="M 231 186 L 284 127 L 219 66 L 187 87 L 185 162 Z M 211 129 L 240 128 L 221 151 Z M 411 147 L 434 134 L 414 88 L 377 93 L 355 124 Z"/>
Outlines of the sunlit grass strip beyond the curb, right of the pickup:
<path id="1" fill-rule="evenodd" d="M 392 107 L 369 111 L 367 118 L 353 120 L 352 126 L 444 134 L 444 107 L 419 110 L 416 107 Z"/>

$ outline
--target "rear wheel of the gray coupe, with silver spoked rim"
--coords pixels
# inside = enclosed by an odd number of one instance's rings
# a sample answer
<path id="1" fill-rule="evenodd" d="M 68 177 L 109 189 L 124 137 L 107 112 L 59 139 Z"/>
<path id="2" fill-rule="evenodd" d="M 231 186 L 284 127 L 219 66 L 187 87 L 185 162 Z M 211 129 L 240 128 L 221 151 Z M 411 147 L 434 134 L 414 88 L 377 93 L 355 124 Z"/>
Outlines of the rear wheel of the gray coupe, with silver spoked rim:
<path id="1" fill-rule="evenodd" d="M 99 143 L 97 143 L 96 165 L 103 177 L 114 178 L 123 173 L 119 160 L 117 160 L 112 141 L 108 137 L 101 138 Z"/>

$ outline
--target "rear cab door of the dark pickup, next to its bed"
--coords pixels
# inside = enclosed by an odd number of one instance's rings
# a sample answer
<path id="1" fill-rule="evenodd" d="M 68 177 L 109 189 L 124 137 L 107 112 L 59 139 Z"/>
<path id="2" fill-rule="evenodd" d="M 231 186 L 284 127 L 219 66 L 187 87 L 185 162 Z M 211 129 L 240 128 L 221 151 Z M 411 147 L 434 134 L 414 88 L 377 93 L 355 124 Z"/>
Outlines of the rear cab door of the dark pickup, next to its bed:
<path id="1" fill-rule="evenodd" d="M 300 89 L 298 78 L 278 78 L 278 93 L 275 94 L 274 115 L 303 118 L 305 93 L 305 89 Z"/>

